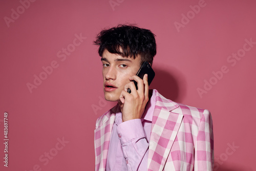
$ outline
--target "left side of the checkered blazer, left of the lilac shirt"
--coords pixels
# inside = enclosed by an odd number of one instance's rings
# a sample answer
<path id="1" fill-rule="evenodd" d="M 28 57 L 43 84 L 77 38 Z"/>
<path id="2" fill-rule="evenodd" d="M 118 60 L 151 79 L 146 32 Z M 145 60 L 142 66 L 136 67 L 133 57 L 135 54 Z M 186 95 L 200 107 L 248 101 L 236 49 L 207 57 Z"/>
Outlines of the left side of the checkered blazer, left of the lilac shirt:
<path id="1" fill-rule="evenodd" d="M 102 125 L 95 129 L 96 170 L 105 170 L 116 110 L 117 105 L 108 114 L 103 115 Z"/>

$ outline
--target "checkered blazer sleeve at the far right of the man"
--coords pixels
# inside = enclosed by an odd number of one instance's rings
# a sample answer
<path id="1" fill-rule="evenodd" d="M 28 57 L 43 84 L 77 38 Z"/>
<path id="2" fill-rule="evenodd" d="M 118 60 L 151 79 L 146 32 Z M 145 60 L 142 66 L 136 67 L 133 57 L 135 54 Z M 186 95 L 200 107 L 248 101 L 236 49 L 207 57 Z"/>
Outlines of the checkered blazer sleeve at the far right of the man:
<path id="1" fill-rule="evenodd" d="M 197 171 L 208 171 L 214 168 L 214 133 L 211 114 L 208 110 L 204 110 L 198 128 L 194 168 Z"/>

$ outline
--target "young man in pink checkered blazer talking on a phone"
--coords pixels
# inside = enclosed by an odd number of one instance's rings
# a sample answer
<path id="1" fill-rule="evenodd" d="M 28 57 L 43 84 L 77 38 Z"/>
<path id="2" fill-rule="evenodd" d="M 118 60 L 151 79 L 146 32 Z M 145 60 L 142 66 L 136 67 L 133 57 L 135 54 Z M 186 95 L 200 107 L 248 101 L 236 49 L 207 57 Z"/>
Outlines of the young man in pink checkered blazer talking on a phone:
<path id="1" fill-rule="evenodd" d="M 148 90 L 147 75 L 136 76 L 144 61 L 152 65 L 155 35 L 118 25 L 101 31 L 95 44 L 103 64 L 105 99 L 117 101 L 96 121 L 95 170 L 212 170 L 209 111 L 166 99 Z"/>

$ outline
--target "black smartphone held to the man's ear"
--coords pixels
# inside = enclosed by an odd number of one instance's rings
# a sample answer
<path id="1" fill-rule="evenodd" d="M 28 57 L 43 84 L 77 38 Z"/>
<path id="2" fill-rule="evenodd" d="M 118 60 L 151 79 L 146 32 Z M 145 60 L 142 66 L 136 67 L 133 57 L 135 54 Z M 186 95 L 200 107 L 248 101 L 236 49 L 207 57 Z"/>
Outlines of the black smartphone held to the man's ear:
<path id="1" fill-rule="evenodd" d="M 147 74 L 147 82 L 148 82 L 148 86 L 150 86 L 150 83 L 152 82 L 153 78 L 155 77 L 155 72 L 154 70 L 151 68 L 150 63 L 148 63 L 147 61 L 143 62 L 139 71 L 137 72 L 137 76 L 140 77 L 141 79 L 143 79 L 143 76 Z M 133 80 L 136 90 L 138 90 L 138 84 L 135 80 Z M 131 89 L 127 90 L 128 93 L 131 93 Z"/>

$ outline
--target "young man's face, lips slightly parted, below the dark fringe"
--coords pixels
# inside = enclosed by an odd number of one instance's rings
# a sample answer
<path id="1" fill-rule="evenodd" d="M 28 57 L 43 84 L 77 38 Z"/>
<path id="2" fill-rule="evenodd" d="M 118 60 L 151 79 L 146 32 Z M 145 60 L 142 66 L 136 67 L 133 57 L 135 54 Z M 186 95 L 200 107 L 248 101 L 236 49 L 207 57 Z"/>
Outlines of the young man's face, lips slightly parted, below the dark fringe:
<path id="1" fill-rule="evenodd" d="M 105 50 L 101 58 L 103 69 L 103 91 L 108 101 L 119 101 L 124 85 L 129 83 L 129 77 L 136 75 L 140 68 L 141 57 L 135 59 L 122 57 Z"/>

